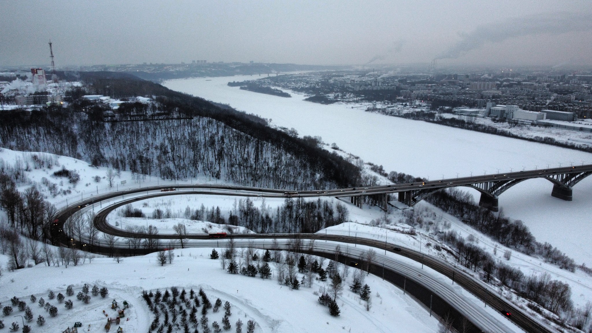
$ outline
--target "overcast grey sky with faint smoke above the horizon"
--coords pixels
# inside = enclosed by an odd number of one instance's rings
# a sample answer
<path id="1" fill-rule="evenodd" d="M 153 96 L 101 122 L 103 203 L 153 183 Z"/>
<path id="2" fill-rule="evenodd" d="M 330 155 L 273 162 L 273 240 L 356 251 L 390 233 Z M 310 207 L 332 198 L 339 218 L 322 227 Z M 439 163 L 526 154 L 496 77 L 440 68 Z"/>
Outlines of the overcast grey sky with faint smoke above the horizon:
<path id="1" fill-rule="evenodd" d="M 0 0 L 0 66 L 592 64 L 592 1 Z"/>

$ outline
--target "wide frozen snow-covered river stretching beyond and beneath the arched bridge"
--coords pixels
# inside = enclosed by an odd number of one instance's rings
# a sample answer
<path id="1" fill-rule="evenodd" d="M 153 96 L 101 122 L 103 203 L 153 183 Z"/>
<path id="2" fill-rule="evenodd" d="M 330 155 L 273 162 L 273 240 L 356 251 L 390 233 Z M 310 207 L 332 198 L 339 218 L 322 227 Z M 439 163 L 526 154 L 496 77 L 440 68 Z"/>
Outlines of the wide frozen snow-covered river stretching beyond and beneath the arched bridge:
<path id="1" fill-rule="evenodd" d="M 276 97 L 228 87 L 230 76 L 166 81 L 165 86 L 294 127 L 299 135 L 321 136 L 364 161 L 417 177 L 452 178 L 526 168 L 592 164 L 592 154 L 509 137 L 366 113 L 345 104 L 303 101 L 303 95 Z M 363 109 L 363 108 L 362 108 Z M 578 263 L 592 264 L 592 177 L 575 185 L 574 201 L 551 197 L 552 184 L 536 179 L 501 194 L 504 214 L 523 220 L 539 241 L 548 241 Z M 476 192 L 476 191 L 475 191 Z"/>

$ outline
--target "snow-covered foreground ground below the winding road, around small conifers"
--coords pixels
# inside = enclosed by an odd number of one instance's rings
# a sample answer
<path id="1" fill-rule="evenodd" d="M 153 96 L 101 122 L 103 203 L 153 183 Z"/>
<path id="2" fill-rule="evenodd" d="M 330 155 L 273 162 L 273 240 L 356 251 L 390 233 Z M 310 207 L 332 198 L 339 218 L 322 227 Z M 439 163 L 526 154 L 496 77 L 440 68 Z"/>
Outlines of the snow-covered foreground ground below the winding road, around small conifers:
<path id="1" fill-rule="evenodd" d="M 210 260 L 210 252 L 210 248 L 177 249 L 177 257 L 173 263 L 163 267 L 157 262 L 156 254 L 150 254 L 124 258 L 119 264 L 112 258 L 96 258 L 91 264 L 76 267 L 46 267 L 40 264 L 5 272 L 0 277 L 0 302 L 8 305 L 9 299 L 17 296 L 31 307 L 34 318 L 43 315 L 46 324 L 40 328 L 33 321 L 33 332 L 62 332 L 76 321 L 82 322 L 85 332 L 88 325 L 91 325 L 88 332 L 104 332 L 103 326 L 107 321 L 102 310 L 113 317 L 115 311 L 111 310 L 111 301 L 115 299 L 121 305 L 123 300 L 127 300 L 130 309 L 126 311 L 126 318 L 122 319 L 120 326 L 126 333 L 144 333 L 148 331 L 153 314 L 141 298 L 141 290 L 163 291 L 176 286 L 179 289 L 185 288 L 187 292 L 191 288 L 197 292 L 202 287 L 212 302 L 219 297 L 223 302 L 227 300 L 231 303 L 233 307 L 230 322 L 233 330 L 234 322 L 240 318 L 244 324 L 249 319 L 255 321 L 258 324 L 255 332 L 437 331 L 435 317 L 430 317 L 422 306 L 404 295 L 403 290 L 376 276 L 365 278 L 365 283 L 372 290 L 373 302 L 369 311 L 366 311 L 359 296 L 346 287 L 337 302 L 341 310 L 340 316 L 332 317 L 329 310 L 317 302 L 318 290 L 321 286 L 326 287 L 327 282 L 314 281 L 311 288 L 290 290 L 286 286 L 280 286 L 274 277 L 263 280 L 259 277 L 231 275 L 221 269 L 219 260 Z M 40 276 L 43 278 L 39 278 Z M 353 272 L 350 270 L 346 285 L 349 286 L 352 277 Z M 94 284 L 99 287 L 107 286 L 109 294 L 105 298 L 93 296 L 90 303 L 85 305 L 75 297 L 84 283 L 91 287 Z M 74 287 L 75 295 L 66 299 L 72 299 L 72 310 L 66 310 L 55 299 L 50 300 L 59 309 L 58 315 L 52 318 L 37 303 L 30 302 L 31 294 L 37 299 L 44 297 L 46 300 L 49 290 L 53 290 L 55 294 L 65 294 L 66 287 L 70 284 Z M 15 311 L 12 315 L 22 313 Z M 12 321 L 21 323 L 20 318 L 12 318 L 12 315 L 2 316 L 5 325 L 9 326 Z M 222 317 L 223 311 L 208 312 L 210 323 L 220 323 Z M 117 325 L 111 329 L 115 331 Z M 243 326 L 244 329 L 246 328 Z"/>

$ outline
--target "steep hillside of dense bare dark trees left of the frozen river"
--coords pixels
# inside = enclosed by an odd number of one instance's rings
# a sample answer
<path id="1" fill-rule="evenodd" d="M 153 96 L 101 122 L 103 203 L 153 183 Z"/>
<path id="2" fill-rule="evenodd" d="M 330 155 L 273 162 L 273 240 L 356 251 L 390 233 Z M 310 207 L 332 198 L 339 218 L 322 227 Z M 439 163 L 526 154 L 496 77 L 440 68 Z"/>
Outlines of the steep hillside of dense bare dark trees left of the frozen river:
<path id="1" fill-rule="evenodd" d="M 162 85 L 110 72 L 79 73 L 67 107 L 0 113 L 0 146 L 83 159 L 163 178 L 211 176 L 260 187 L 356 185 L 360 170 L 336 153 L 272 129 L 265 120 Z M 83 94 L 147 96 L 112 113 Z"/>

